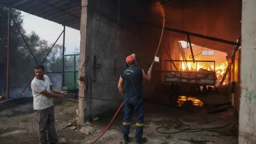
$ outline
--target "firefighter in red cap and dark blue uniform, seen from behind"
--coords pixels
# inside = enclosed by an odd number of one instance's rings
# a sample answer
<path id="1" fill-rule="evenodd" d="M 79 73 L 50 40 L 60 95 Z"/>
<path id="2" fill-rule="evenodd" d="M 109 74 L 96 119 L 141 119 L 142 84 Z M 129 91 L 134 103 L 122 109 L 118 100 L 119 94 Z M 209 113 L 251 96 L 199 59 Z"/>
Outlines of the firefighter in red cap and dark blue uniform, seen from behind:
<path id="1" fill-rule="evenodd" d="M 132 109 L 136 111 L 136 143 L 142 143 L 143 122 L 144 122 L 144 100 L 142 97 L 142 85 L 145 81 L 151 80 L 152 69 L 145 71 L 137 66 L 135 54 L 127 56 L 126 63 L 129 67 L 122 72 L 118 89 L 124 96 L 124 121 L 123 121 L 123 138 L 124 143 L 129 142 L 129 130 Z M 124 88 L 122 84 L 124 83 Z M 125 89 L 125 92 L 124 92 Z"/>

